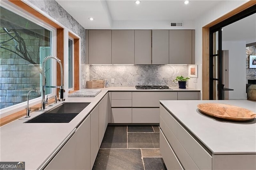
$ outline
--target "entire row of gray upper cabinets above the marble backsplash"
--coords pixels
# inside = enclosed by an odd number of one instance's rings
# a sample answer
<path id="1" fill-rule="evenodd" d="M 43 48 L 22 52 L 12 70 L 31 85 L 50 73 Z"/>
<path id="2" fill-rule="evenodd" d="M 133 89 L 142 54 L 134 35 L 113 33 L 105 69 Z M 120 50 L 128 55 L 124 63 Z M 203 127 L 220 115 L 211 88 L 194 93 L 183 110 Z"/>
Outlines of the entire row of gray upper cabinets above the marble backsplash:
<path id="1" fill-rule="evenodd" d="M 88 64 L 194 64 L 195 30 L 86 30 Z"/>

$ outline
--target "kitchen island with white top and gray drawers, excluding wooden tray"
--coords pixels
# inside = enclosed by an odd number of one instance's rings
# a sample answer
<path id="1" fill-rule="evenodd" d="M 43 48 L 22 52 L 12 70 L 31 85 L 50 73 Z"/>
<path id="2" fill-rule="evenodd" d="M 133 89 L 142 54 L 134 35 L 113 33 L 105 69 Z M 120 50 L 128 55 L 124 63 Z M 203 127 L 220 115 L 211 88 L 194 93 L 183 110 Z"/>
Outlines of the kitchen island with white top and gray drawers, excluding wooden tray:
<path id="1" fill-rule="evenodd" d="M 160 101 L 160 152 L 168 169 L 256 169 L 256 119 L 226 121 L 198 111 L 201 103 L 224 103 L 256 112 L 256 103 Z"/>

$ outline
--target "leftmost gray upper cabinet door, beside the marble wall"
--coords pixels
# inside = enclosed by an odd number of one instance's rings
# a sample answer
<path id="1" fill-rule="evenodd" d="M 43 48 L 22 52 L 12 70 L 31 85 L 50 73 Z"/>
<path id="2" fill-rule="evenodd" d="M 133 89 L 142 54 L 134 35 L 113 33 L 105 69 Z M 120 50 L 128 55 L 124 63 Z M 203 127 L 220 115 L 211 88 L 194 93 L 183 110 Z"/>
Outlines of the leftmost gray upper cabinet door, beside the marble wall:
<path id="1" fill-rule="evenodd" d="M 111 30 L 89 30 L 89 64 L 111 64 Z"/>

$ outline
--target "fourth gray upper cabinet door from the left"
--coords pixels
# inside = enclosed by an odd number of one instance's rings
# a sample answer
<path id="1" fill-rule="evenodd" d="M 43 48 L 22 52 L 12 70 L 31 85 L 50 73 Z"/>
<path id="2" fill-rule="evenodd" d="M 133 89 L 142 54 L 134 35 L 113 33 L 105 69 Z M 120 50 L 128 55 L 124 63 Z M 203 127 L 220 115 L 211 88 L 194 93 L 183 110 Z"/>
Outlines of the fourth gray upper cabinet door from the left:
<path id="1" fill-rule="evenodd" d="M 152 30 L 152 64 L 169 64 L 169 30 Z"/>

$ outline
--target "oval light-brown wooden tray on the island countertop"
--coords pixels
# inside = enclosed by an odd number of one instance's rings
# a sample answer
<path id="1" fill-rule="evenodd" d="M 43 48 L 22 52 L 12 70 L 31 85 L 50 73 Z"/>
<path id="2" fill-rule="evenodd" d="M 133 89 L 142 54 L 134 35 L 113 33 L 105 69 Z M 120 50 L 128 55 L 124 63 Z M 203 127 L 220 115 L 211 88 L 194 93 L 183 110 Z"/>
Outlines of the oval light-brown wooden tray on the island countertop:
<path id="1" fill-rule="evenodd" d="M 248 109 L 233 105 L 220 103 L 202 103 L 197 105 L 197 107 L 206 115 L 232 121 L 247 121 L 256 117 L 256 113 Z"/>

